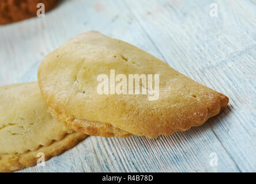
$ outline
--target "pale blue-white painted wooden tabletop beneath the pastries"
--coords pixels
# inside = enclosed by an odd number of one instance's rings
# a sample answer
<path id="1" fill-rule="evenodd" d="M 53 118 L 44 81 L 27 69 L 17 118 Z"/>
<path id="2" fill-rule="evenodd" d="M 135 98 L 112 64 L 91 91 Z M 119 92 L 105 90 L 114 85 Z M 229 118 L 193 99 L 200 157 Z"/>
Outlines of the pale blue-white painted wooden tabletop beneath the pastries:
<path id="1" fill-rule="evenodd" d="M 211 3 L 218 17 L 209 15 Z M 256 171 L 256 1 L 67 0 L 46 17 L 0 26 L 0 85 L 35 81 L 47 53 L 87 30 L 134 44 L 228 95 L 228 109 L 157 139 L 91 136 L 20 172 Z"/>

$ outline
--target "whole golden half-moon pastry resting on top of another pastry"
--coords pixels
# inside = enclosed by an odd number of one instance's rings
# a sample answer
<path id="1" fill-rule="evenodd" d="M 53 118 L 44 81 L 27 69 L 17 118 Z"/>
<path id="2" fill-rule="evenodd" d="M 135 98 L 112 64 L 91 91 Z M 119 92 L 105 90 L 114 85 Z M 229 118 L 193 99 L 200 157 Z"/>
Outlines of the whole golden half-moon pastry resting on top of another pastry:
<path id="1" fill-rule="evenodd" d="M 115 74 L 114 84 L 111 71 Z M 147 81 L 151 76 L 151 85 L 140 80 L 132 82 L 139 85 L 140 91 L 146 89 L 147 94 L 135 94 L 130 84 L 122 94 L 111 93 L 111 87 L 118 86 L 121 78 L 129 78 L 129 74 L 145 74 Z M 101 75 L 109 76 L 110 83 L 106 91 L 99 92 Z M 159 97 L 152 100 L 150 94 L 157 94 L 157 76 Z M 47 55 L 40 64 L 38 80 L 51 114 L 67 127 L 88 135 L 171 135 L 202 125 L 228 105 L 225 95 L 125 41 L 95 31 L 82 33 Z M 108 132 L 112 129 L 118 133 L 106 135 L 106 127 Z"/>

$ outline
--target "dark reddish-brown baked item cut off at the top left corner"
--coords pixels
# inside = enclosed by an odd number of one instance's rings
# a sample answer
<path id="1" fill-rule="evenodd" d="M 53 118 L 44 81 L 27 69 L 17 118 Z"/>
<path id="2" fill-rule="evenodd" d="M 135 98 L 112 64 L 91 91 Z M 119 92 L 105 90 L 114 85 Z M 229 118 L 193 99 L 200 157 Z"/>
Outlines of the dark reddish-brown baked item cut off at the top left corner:
<path id="1" fill-rule="evenodd" d="M 45 12 L 51 10 L 59 0 L 0 0 L 0 25 L 35 17 L 37 3 L 44 3 Z"/>

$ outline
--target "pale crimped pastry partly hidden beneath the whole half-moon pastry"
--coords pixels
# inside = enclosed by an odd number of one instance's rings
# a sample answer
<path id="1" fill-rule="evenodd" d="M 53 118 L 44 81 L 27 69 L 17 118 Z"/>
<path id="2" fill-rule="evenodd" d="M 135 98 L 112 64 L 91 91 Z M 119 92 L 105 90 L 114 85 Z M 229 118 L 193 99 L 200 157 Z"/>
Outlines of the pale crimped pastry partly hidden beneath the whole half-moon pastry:
<path id="1" fill-rule="evenodd" d="M 39 153 L 48 160 L 86 136 L 47 113 L 37 82 L 0 87 L 0 172 L 35 166 Z"/>

